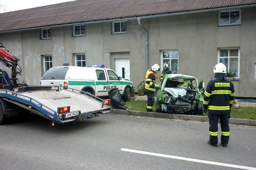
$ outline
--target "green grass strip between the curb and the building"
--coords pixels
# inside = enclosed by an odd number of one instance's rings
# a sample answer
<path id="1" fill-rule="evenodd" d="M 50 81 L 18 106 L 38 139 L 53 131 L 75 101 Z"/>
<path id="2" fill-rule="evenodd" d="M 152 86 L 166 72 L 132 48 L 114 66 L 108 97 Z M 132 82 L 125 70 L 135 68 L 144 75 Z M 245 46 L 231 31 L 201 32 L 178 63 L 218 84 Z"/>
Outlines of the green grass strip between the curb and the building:
<path id="1" fill-rule="evenodd" d="M 131 100 L 124 102 L 128 110 L 134 111 L 146 111 L 146 100 Z M 156 111 L 156 102 L 153 105 L 153 111 Z M 207 116 L 207 115 L 205 115 Z M 239 107 L 237 109 L 232 108 L 230 113 L 231 118 L 237 119 L 253 119 L 256 120 L 256 107 Z"/>

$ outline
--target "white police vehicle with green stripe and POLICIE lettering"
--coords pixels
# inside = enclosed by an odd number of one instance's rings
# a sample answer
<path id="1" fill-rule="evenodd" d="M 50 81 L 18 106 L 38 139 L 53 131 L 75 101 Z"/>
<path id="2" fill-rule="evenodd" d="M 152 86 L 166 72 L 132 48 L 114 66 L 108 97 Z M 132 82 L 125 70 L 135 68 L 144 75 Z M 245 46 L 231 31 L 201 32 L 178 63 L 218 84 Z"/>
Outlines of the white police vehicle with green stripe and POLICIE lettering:
<path id="1" fill-rule="evenodd" d="M 60 66 L 47 70 L 41 79 L 42 86 L 64 86 L 89 92 L 95 96 L 108 96 L 118 88 L 125 101 L 131 99 L 132 82 L 122 79 L 104 65 L 94 67 Z"/>

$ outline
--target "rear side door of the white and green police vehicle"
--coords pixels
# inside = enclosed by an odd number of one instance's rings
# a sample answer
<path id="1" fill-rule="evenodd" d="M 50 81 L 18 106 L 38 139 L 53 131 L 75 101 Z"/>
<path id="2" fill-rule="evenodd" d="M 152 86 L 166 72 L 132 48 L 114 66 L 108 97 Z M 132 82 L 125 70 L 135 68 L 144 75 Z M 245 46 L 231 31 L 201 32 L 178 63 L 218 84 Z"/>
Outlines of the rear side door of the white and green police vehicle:
<path id="1" fill-rule="evenodd" d="M 97 75 L 97 80 L 95 81 L 96 84 L 96 90 L 97 96 L 106 96 L 108 95 L 108 80 L 107 80 L 107 75 L 106 72 L 102 70 L 95 70 L 96 75 Z"/>

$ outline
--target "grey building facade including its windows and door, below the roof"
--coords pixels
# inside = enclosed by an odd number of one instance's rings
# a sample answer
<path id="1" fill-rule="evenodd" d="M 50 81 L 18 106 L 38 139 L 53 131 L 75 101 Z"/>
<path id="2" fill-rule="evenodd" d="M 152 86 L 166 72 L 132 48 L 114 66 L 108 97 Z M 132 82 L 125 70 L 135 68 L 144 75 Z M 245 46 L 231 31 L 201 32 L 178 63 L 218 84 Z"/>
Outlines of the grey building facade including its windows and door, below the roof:
<path id="1" fill-rule="evenodd" d="M 256 97 L 256 7 L 145 17 L 141 24 L 148 30 L 148 68 L 145 31 L 137 19 L 4 32 L 0 39 L 20 58 L 19 80 L 29 85 L 39 85 L 45 71 L 63 62 L 104 64 L 130 79 L 135 92 L 155 63 L 207 84 L 222 62 L 235 73 L 235 96 Z"/>

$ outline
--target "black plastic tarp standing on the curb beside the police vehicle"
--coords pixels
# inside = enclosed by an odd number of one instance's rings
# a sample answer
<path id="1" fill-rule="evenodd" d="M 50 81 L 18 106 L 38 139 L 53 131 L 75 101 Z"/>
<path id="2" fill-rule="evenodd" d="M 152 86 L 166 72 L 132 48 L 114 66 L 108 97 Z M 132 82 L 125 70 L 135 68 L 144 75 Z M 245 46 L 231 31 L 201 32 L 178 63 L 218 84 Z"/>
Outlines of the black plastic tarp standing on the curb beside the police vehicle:
<path id="1" fill-rule="evenodd" d="M 111 99 L 111 106 L 113 109 L 126 110 L 126 107 L 124 106 L 124 103 L 118 88 L 110 90 L 108 94 Z"/>

